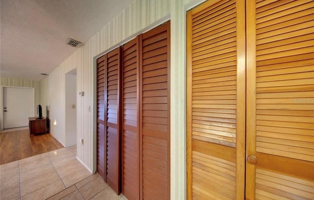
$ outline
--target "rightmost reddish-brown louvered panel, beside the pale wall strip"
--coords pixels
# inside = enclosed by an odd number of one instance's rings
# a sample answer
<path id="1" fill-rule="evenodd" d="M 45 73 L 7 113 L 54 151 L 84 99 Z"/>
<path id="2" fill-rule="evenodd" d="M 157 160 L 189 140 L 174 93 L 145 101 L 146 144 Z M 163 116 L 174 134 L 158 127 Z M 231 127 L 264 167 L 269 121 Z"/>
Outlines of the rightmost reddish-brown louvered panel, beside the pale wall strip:
<path id="1" fill-rule="evenodd" d="M 170 22 L 140 35 L 140 199 L 170 199 Z"/>

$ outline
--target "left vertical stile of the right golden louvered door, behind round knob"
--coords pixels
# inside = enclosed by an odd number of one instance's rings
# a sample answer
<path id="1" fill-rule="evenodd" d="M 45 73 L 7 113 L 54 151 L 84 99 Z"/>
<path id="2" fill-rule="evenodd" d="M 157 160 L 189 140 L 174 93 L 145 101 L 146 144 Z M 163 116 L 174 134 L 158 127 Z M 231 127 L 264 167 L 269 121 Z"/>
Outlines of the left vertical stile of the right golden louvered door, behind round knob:
<path id="1" fill-rule="evenodd" d="M 246 0 L 246 156 L 256 151 L 256 8 Z M 255 200 L 255 165 L 246 162 L 246 199 Z"/>

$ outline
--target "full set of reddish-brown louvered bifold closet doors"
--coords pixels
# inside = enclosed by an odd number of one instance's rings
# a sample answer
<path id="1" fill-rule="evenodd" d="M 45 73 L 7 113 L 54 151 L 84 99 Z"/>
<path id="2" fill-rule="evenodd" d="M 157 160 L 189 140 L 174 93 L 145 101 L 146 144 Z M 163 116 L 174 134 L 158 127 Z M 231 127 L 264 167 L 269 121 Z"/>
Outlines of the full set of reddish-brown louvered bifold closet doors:
<path id="1" fill-rule="evenodd" d="M 97 63 L 98 172 L 129 200 L 170 199 L 170 22 Z"/>

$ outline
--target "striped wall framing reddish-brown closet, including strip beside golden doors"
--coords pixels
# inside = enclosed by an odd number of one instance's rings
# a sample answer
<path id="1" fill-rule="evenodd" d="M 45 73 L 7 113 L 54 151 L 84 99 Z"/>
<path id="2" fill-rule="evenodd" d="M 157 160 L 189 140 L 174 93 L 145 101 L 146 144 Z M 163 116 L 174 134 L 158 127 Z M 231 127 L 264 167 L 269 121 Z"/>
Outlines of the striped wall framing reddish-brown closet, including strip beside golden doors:
<path id="1" fill-rule="evenodd" d="M 49 91 L 53 134 L 65 141 L 65 74 L 77 67 L 78 159 L 96 169 L 95 59 L 138 33 L 171 19 L 171 199 L 185 199 L 185 12 L 204 0 L 134 0 L 85 45 L 57 67 L 42 86 Z M 171 15 L 170 15 L 171 14 Z M 171 16 L 171 17 L 170 17 Z M 48 83 L 48 84 L 47 84 Z M 44 104 L 44 103 L 43 103 Z M 89 110 L 89 107 L 91 108 Z"/>

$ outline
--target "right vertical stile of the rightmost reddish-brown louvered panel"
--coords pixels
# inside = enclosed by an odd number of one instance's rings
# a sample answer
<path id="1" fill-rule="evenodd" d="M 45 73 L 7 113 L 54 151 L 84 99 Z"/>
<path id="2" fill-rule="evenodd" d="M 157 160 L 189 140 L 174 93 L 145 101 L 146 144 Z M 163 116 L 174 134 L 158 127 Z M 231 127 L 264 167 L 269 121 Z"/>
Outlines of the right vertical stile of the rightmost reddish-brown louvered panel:
<path id="1" fill-rule="evenodd" d="M 168 156 L 167 156 L 167 159 L 168 159 L 168 200 L 170 200 L 170 174 L 171 174 L 171 171 L 170 171 L 170 165 L 171 165 L 171 163 L 170 163 L 170 138 L 171 138 L 171 134 L 170 134 L 170 120 L 171 120 L 171 113 L 170 113 L 170 89 L 171 89 L 171 80 L 170 80 L 170 78 L 171 78 L 171 76 L 170 76 L 170 64 L 171 64 L 171 61 L 170 61 L 170 54 L 171 54 L 171 46 L 170 46 L 170 41 L 171 41 L 171 39 L 170 39 L 170 21 L 168 21 L 167 22 L 167 78 L 168 78 L 168 80 L 167 80 L 167 84 L 168 84 L 168 97 L 167 97 L 167 110 L 168 110 L 168 119 L 167 119 L 167 123 L 168 123 L 168 126 L 167 126 L 167 132 L 168 132 L 168 135 L 167 135 L 167 137 L 168 137 Z"/>

